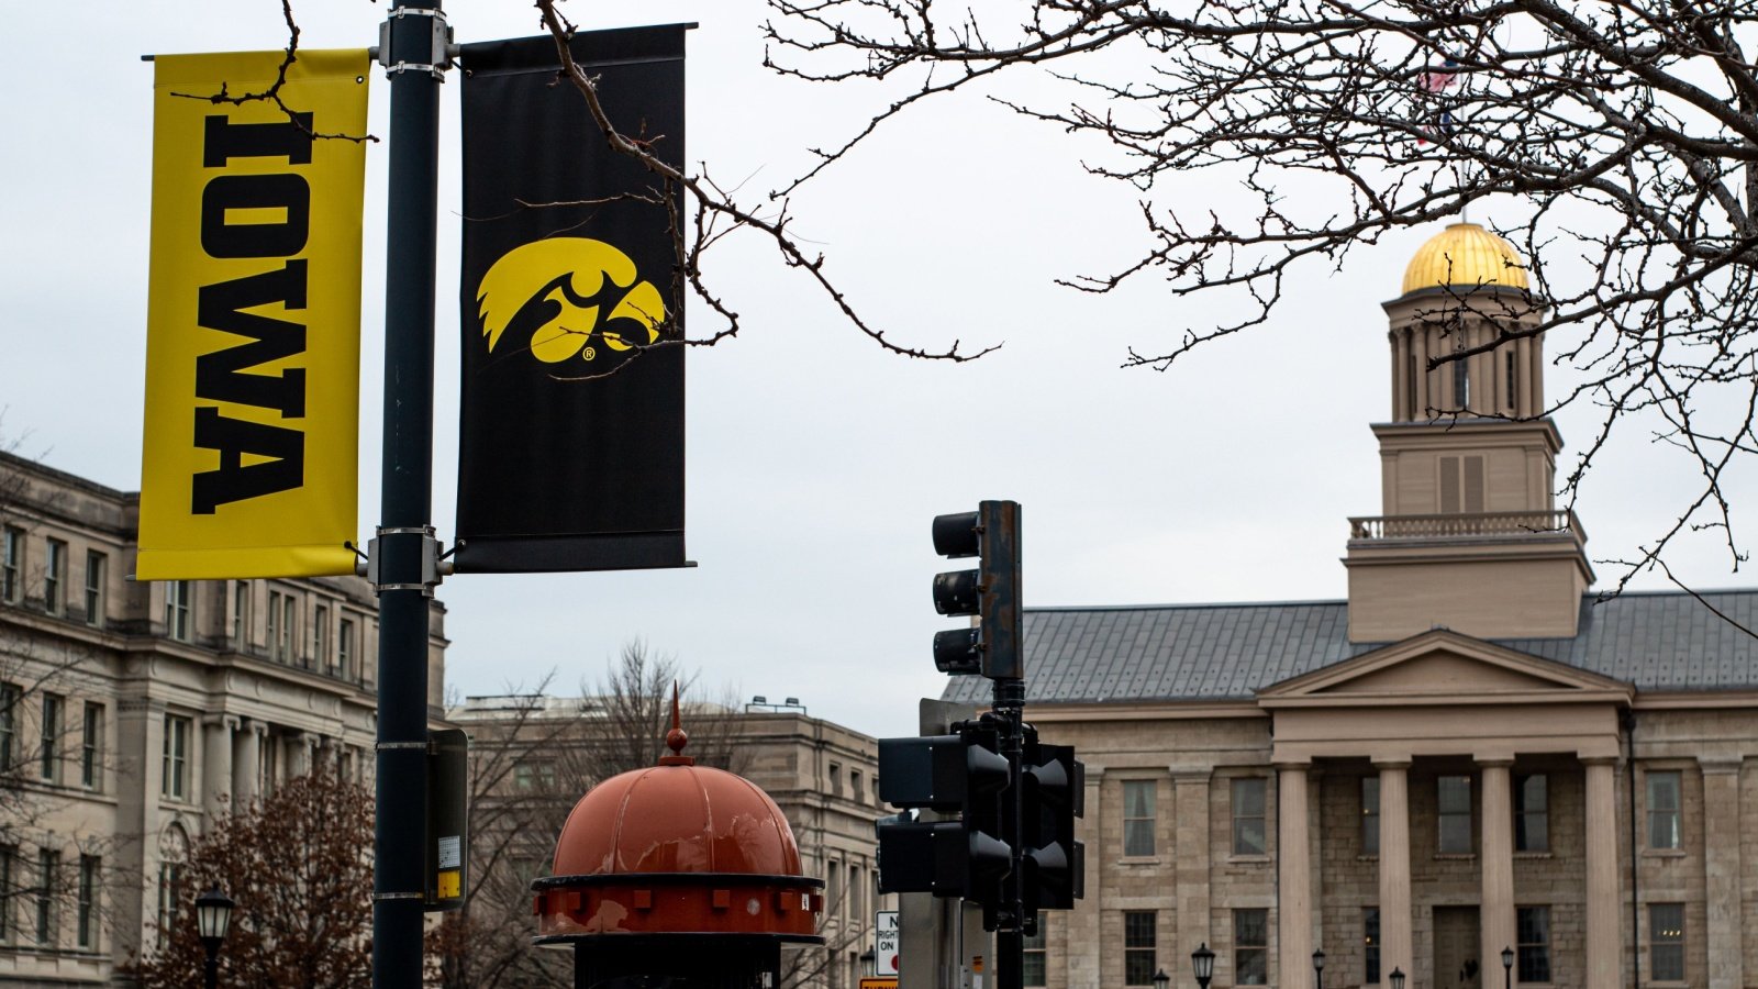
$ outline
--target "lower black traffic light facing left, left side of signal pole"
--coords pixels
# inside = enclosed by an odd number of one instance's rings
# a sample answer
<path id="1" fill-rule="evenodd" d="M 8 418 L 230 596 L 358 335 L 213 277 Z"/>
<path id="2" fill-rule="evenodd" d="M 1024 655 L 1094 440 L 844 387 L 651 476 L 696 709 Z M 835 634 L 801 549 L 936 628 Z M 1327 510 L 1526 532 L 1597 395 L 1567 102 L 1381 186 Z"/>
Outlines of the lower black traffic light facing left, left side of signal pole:
<path id="1" fill-rule="evenodd" d="M 879 799 L 904 808 L 877 824 L 879 892 L 932 892 L 997 905 L 1013 871 L 1004 802 L 1007 760 L 981 722 L 958 734 L 879 739 Z M 921 820 L 914 811 L 948 820 Z M 956 815 L 956 817 L 953 817 Z"/>

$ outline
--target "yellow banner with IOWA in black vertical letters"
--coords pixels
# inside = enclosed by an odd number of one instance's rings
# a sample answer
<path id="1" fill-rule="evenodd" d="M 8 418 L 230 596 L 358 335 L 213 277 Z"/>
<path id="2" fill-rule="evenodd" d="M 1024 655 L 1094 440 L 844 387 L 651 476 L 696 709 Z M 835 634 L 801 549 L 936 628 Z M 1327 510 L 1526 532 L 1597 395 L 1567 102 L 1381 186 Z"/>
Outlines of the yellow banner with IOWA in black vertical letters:
<path id="1" fill-rule="evenodd" d="M 353 572 L 367 55 L 209 99 L 283 58 L 155 60 L 142 581 Z"/>

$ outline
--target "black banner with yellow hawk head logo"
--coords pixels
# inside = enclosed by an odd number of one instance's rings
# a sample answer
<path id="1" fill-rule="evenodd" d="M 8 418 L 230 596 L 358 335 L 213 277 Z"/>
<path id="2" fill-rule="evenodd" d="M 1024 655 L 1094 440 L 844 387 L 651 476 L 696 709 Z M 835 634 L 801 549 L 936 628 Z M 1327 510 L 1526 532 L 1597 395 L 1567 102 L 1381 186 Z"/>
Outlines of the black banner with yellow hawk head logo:
<path id="1" fill-rule="evenodd" d="M 684 158 L 684 25 L 578 33 L 605 111 Z M 672 197 L 612 151 L 556 42 L 462 48 L 457 568 L 684 567 Z"/>

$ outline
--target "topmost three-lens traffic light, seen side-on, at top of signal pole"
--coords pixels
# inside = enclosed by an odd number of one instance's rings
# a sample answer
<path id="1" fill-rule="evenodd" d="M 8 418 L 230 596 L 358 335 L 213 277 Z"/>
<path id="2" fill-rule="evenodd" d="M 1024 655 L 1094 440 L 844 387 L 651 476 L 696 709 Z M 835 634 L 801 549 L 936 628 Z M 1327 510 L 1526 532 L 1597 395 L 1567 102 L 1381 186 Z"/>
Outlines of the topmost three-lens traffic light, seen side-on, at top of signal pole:
<path id="1" fill-rule="evenodd" d="M 981 502 L 976 512 L 935 516 L 933 551 L 977 556 L 976 570 L 933 577 L 941 614 L 974 614 L 977 625 L 933 635 L 933 665 L 949 674 L 1025 679 L 1020 635 L 1020 503 Z"/>

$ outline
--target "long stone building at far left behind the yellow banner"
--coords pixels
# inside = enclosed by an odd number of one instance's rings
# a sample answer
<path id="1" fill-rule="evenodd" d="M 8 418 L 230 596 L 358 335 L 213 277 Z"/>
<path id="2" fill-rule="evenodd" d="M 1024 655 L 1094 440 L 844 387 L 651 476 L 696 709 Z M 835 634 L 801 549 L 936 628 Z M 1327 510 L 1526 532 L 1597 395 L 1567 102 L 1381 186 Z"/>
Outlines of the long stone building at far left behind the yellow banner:
<path id="1" fill-rule="evenodd" d="M 137 517 L 0 454 L 0 985 L 111 984 L 179 922 L 176 862 L 214 815 L 318 762 L 373 771 L 371 588 L 135 582 Z"/>

